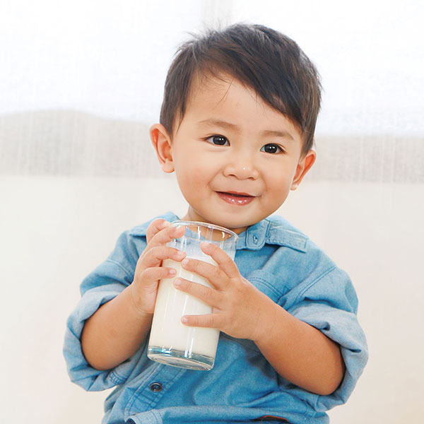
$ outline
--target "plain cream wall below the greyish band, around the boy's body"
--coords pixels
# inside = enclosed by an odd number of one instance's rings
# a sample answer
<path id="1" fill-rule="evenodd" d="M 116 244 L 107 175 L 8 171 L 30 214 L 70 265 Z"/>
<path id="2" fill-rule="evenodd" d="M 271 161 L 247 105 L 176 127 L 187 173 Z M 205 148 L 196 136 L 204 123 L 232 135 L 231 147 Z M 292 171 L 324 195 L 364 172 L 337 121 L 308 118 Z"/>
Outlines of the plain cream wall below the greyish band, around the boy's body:
<path id="1" fill-rule="evenodd" d="M 423 184 L 305 181 L 281 214 L 351 274 L 370 362 L 331 423 L 420 423 Z M 78 285 L 122 230 L 172 209 L 174 179 L 0 176 L 2 420 L 100 423 L 106 393 L 71 384 L 61 355 Z"/>

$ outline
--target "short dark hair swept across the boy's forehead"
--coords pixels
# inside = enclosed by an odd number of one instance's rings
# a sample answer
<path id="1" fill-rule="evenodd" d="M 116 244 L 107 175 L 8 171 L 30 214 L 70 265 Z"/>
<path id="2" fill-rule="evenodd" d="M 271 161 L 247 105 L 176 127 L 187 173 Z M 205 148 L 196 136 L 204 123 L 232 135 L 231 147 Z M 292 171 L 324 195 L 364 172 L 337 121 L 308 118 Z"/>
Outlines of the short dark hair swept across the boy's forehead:
<path id="1" fill-rule="evenodd" d="M 208 30 L 179 47 L 165 81 L 160 123 L 172 134 L 180 122 L 196 74 L 227 74 L 252 88 L 268 105 L 298 125 L 302 152 L 314 143 L 321 104 L 319 73 L 298 44 L 264 25 L 235 24 Z"/>

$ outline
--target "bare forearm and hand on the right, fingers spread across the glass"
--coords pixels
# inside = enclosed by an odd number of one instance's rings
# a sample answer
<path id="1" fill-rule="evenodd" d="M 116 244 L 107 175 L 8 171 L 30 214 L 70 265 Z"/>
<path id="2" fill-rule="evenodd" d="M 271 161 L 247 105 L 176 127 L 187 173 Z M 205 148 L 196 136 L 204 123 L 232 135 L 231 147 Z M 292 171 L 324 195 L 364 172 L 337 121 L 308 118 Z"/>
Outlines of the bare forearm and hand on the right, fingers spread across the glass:
<path id="1" fill-rule="evenodd" d="M 176 283 L 179 290 L 212 305 L 213 313 L 183 317 L 183 323 L 249 338 L 281 377 L 317 394 L 332 393 L 344 374 L 338 345 L 242 278 L 234 261 L 218 247 L 202 249 L 218 267 L 194 259 L 183 261 L 182 266 L 208 278 L 214 289 L 182 279 Z"/>

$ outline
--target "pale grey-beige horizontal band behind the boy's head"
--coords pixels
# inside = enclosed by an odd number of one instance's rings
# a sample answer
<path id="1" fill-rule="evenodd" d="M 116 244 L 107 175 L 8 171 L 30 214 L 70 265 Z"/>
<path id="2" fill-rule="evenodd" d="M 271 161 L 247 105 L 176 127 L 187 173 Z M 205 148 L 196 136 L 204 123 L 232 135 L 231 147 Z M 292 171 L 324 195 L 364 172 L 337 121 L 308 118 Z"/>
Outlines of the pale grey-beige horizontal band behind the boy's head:
<path id="1" fill-rule="evenodd" d="M 162 177 L 148 128 L 77 110 L 0 114 L 0 174 Z M 316 144 L 311 181 L 424 183 L 423 134 L 318 133 Z"/>

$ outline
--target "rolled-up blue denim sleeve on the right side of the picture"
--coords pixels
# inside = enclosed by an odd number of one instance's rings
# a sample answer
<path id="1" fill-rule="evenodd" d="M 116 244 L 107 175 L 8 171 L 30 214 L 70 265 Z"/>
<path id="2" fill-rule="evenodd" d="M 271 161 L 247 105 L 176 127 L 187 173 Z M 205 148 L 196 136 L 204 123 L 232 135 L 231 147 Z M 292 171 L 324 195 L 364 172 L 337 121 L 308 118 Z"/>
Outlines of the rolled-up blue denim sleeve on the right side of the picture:
<path id="1" fill-rule="evenodd" d="M 351 279 L 335 267 L 308 284 L 288 310 L 338 343 L 346 365 L 338 389 L 328 396 L 316 395 L 313 405 L 316 411 L 324 412 L 345 404 L 367 363 L 367 342 L 358 322 L 357 309 L 358 298 Z"/>

